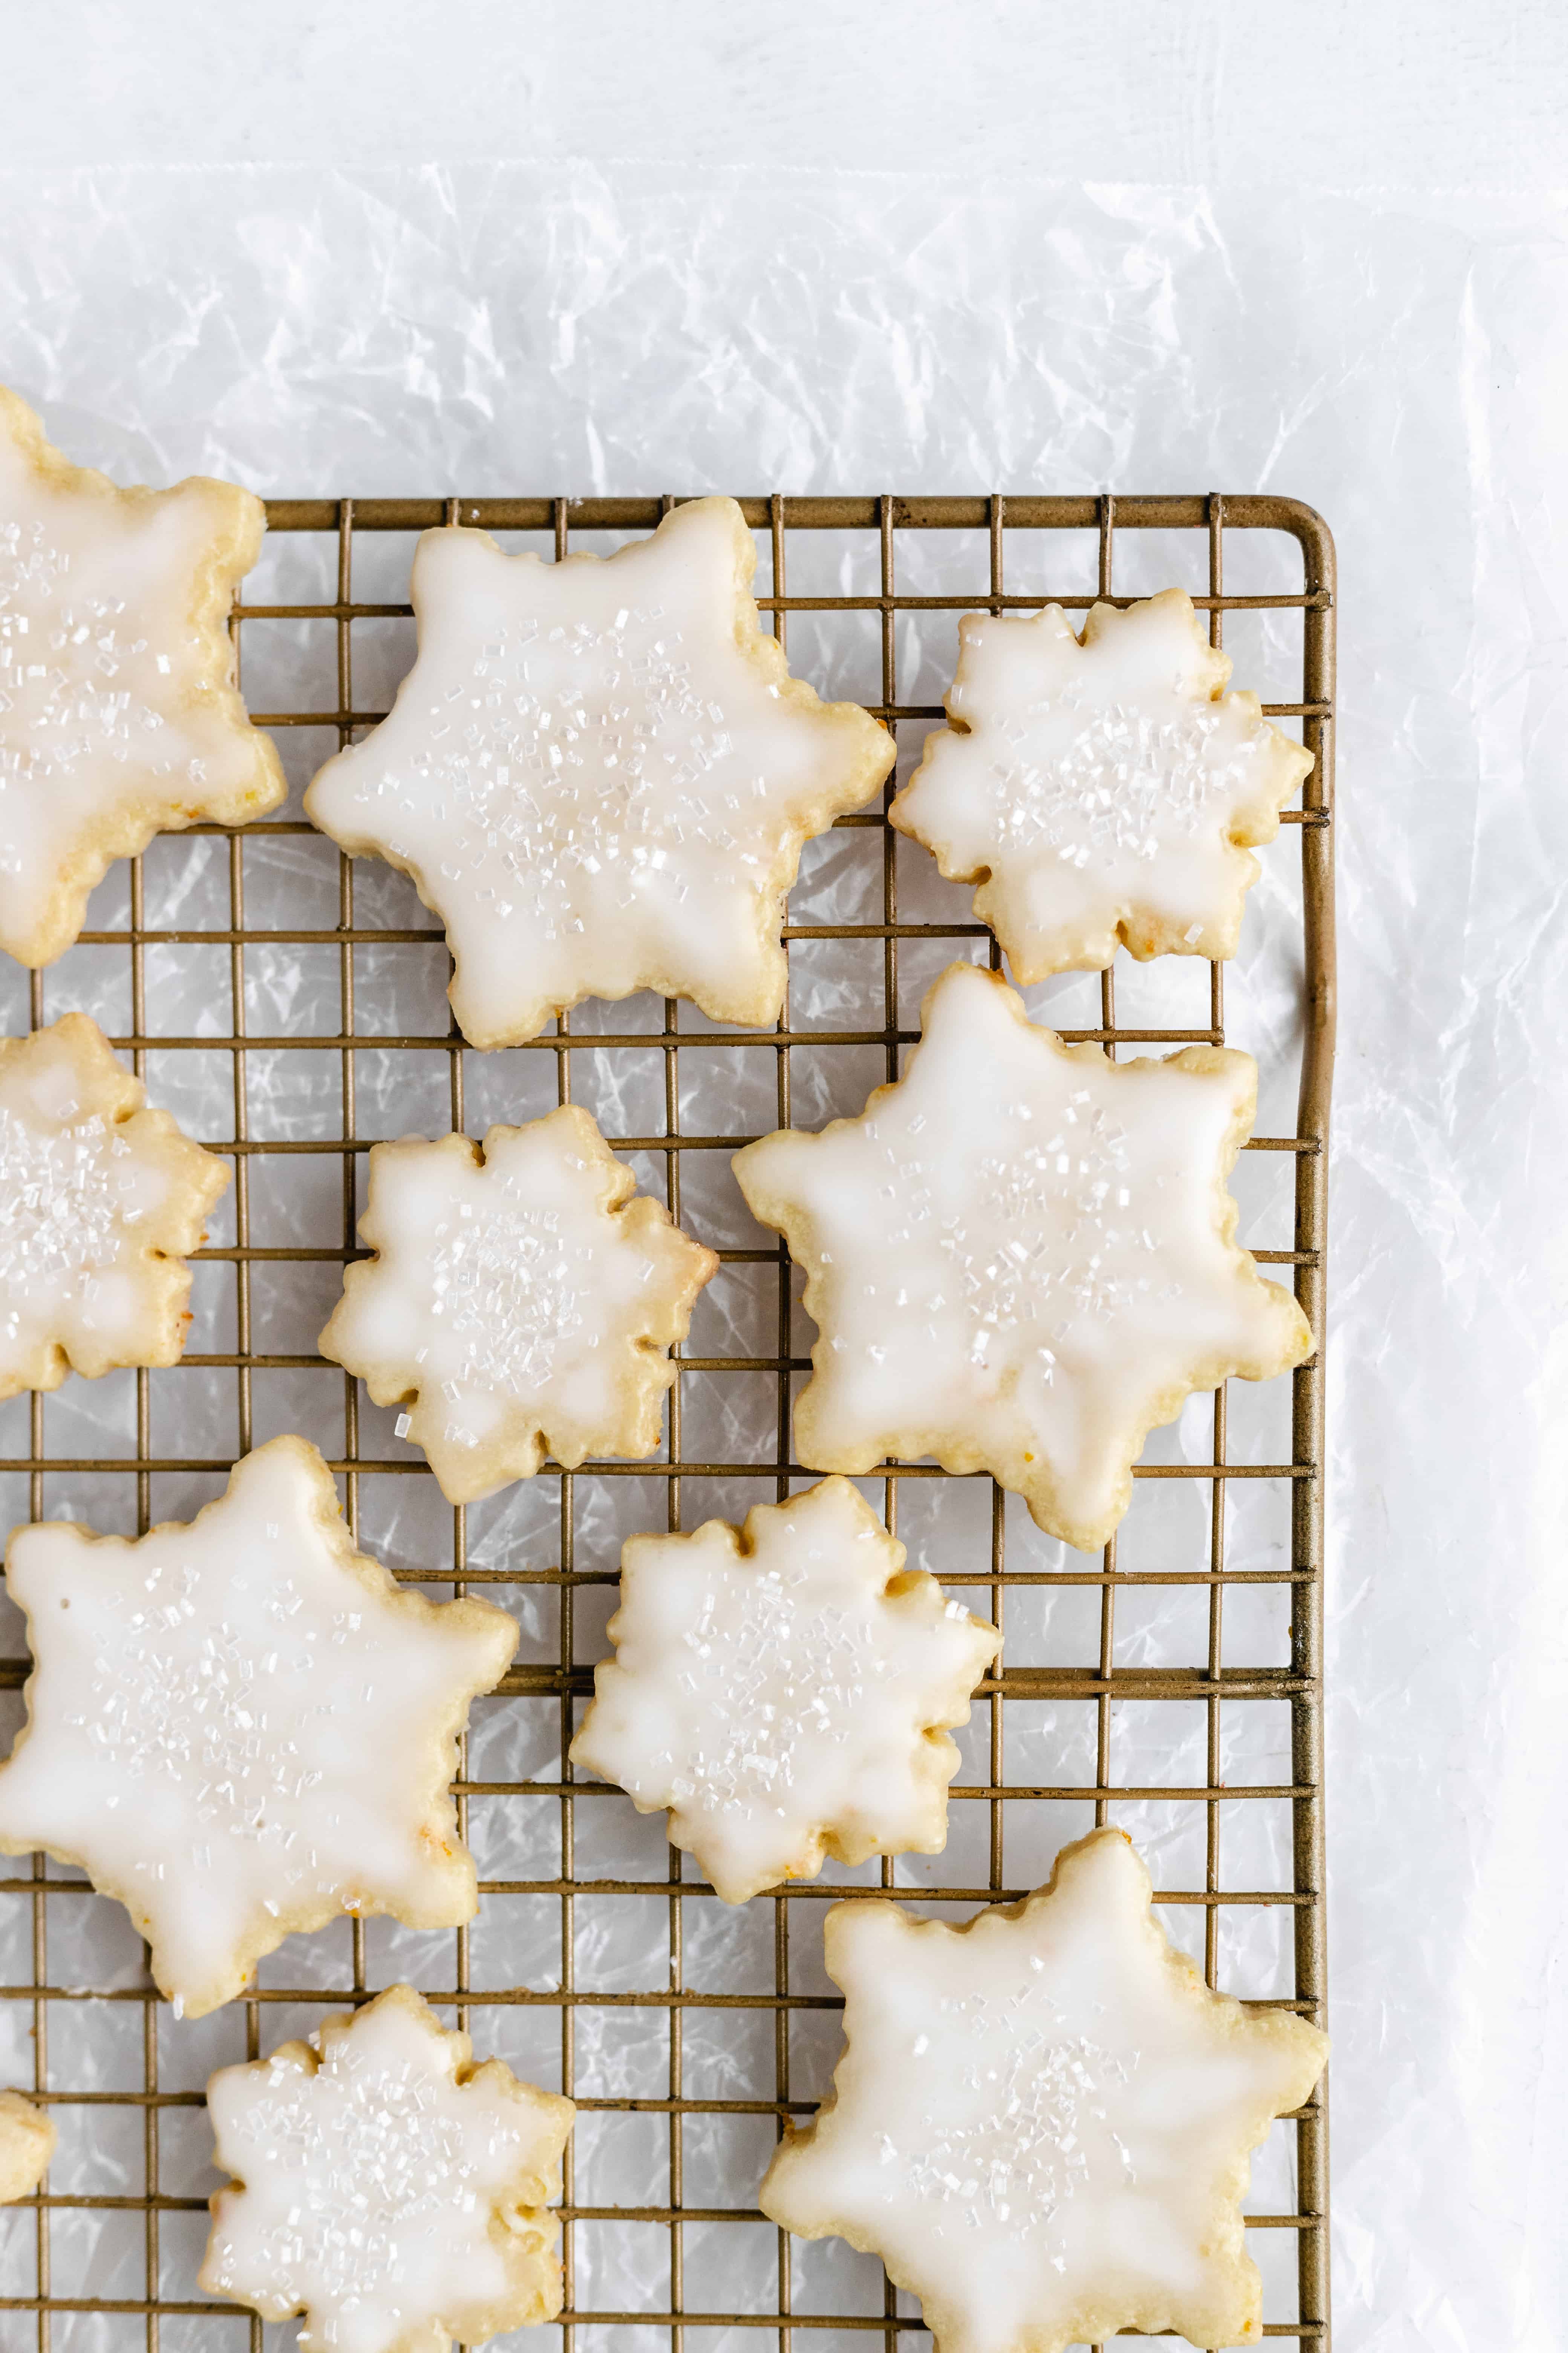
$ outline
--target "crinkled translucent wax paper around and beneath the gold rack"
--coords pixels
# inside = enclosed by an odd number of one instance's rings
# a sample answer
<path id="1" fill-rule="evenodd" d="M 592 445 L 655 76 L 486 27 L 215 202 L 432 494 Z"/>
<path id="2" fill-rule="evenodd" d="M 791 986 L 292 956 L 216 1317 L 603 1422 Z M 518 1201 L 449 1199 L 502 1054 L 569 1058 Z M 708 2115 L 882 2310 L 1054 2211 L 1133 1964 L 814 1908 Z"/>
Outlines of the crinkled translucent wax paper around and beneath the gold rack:
<path id="1" fill-rule="evenodd" d="M 1561 409 L 1568 391 L 1563 216 L 1488 202 L 1460 207 L 1279 191 L 1208 198 L 1185 191 L 969 184 L 917 176 L 816 176 L 783 169 L 599 174 L 473 167 L 331 176 L 141 174 L 9 179 L 0 240 L 2 374 L 38 402 L 78 459 L 122 480 L 190 468 L 263 492 L 517 489 L 1276 489 L 1309 499 L 1340 546 L 1340 969 L 1338 1141 L 1333 1158 L 1328 1774 L 1331 1984 L 1335 2028 L 1335 2301 L 1361 2348 L 1547 2348 L 1563 2304 L 1563 1426 L 1568 1407 L 1568 1014 L 1561 779 L 1559 565 L 1563 548 Z M 1234 553 L 1232 565 L 1246 558 Z M 804 586 L 846 581 L 846 548 L 802 551 Z M 275 541 L 256 593 L 313 593 L 320 546 Z M 973 551 L 910 553 L 938 576 Z M 1027 551 L 1009 562 L 1027 567 Z M 1044 558 L 1034 558 L 1041 560 Z M 1086 567 L 1091 553 L 1077 558 Z M 1117 586 L 1154 588 L 1173 548 L 1119 544 Z M 1182 555 L 1180 560 L 1187 560 Z M 362 548 L 362 584 L 397 598 L 407 546 Z M 910 574 L 914 576 L 914 574 Z M 1060 586 L 1060 558 L 1053 572 Z M 381 588 L 371 584 L 381 581 Z M 1197 581 L 1192 581 L 1197 586 Z M 1232 586 L 1248 586 L 1237 569 Z M 1279 581 L 1274 581 L 1279 584 Z M 1262 581 L 1258 581 L 1262 586 Z M 947 626 L 947 624 L 945 624 Z M 252 638 L 256 631 L 252 631 Z M 1234 619 L 1237 680 L 1288 694 L 1291 633 Z M 875 694 L 875 642 L 797 626 L 792 649 L 818 685 Z M 900 640 L 905 692 L 940 696 L 950 638 Z M 407 628 L 362 654 L 364 694 L 409 659 Z M 280 628 L 247 652 L 256 708 L 331 704 L 331 647 Z M 867 668 L 870 666 L 870 668 Z M 1281 680 L 1281 685 L 1274 685 Z M 292 736 L 296 781 L 327 739 Z M 1265 1066 L 1265 1132 L 1291 1118 L 1298 1033 L 1293 929 L 1295 838 L 1265 854 L 1246 944 L 1227 988 L 1229 1033 Z M 162 842 L 146 861 L 148 922 L 226 922 L 226 868 L 209 842 Z M 327 845 L 247 849 L 249 920 L 331 925 L 336 864 Z M 900 852 L 905 911 L 961 906 L 919 852 Z M 875 920 L 879 882 L 860 838 L 809 854 L 797 911 Z M 94 922 L 125 922 L 125 873 Z M 411 894 L 360 868 L 360 920 L 402 922 Z M 940 962 L 940 955 L 936 955 Z M 872 960 L 875 962 L 875 960 Z M 336 1026 L 334 951 L 252 951 L 252 1026 Z M 360 967 L 360 1019 L 386 1031 L 440 1028 L 440 960 L 386 948 Z M 127 958 L 80 948 L 49 976 L 49 1005 L 85 1002 L 120 1028 Z M 905 955 L 905 1014 L 933 960 Z M 877 972 L 849 946 L 797 958 L 797 1016 L 842 1019 Z M 1128 976 L 1128 1005 L 1178 1002 L 1182 974 Z M 1072 988 L 1041 1007 L 1077 1002 Z M 26 998 L 7 984 L 7 1016 Z M 1164 991 L 1164 993 L 1161 993 Z M 872 998 L 872 1002 L 879 1002 Z M 110 1019 L 113 1016 L 113 1019 Z M 644 1014 L 632 1009 L 630 1019 Z M 226 951 L 148 953 L 150 1028 L 228 1026 Z M 797 1115 L 858 1108 L 879 1056 L 797 1056 Z M 769 1056 L 682 1056 L 686 1122 L 771 1118 Z M 748 1064 L 731 1080 L 736 1064 Z M 228 1129 L 228 1059 L 148 1059 L 158 1099 L 207 1134 Z M 468 1122 L 529 1108 L 543 1056 L 468 1056 Z M 581 1096 L 607 1125 L 658 1125 L 656 1056 L 578 1064 Z M 733 1087 L 741 1094 L 733 1094 Z M 442 1127 L 444 1061 L 360 1056 L 364 1134 Z M 543 1108 L 543 1104 L 541 1104 Z M 256 1134 L 334 1134 L 336 1056 L 254 1056 Z M 1244 1162 L 1244 1233 L 1288 1242 L 1286 1169 Z M 649 1167 L 644 1181 L 658 1181 Z M 256 1240 L 336 1238 L 336 1162 L 252 1165 Z M 686 1217 L 736 1240 L 741 1209 L 722 1155 L 693 1155 Z M 216 1271 L 214 1271 L 216 1273 Z M 738 1271 L 741 1275 L 745 1271 Z M 320 1282 L 317 1282 L 320 1275 Z M 256 1289 L 256 1346 L 308 1351 L 336 1287 L 306 1268 Z M 197 1346 L 226 1346 L 221 1282 L 197 1287 Z M 703 1348 L 750 1348 L 766 1292 L 743 1280 L 705 1306 Z M 155 1377 L 155 1449 L 233 1449 L 228 1377 Z M 769 1384 L 693 1391 L 689 1449 L 769 1445 Z M 1279 1395 L 1232 1402 L 1237 1452 L 1276 1442 Z M 19 1412 L 12 1407 L 12 1414 Z M 129 1381 L 71 1381 L 47 1402 L 59 1452 L 132 1452 Z M 301 1426 L 336 1445 L 334 1377 L 256 1377 L 256 1438 Z M 24 1417 L 26 1419 L 26 1417 Z M 388 1417 L 390 1419 L 390 1417 Z M 24 1442 L 24 1428 L 5 1426 Z M 376 1417 L 367 1445 L 395 1440 Z M 1206 1417 L 1157 1447 L 1204 1454 Z M 155 1511 L 183 1513 L 202 1482 L 158 1480 Z M 583 1504 L 581 1558 L 614 1560 L 618 1532 L 656 1522 L 656 1482 L 604 1482 Z M 686 1497 L 693 1522 L 731 1508 L 726 1492 Z M 129 1482 L 49 1480 L 47 1508 L 118 1525 Z M 378 1487 L 395 1489 L 393 1494 Z M 550 1560 L 552 1485 L 512 1489 L 473 1513 L 477 1560 Z M 976 1560 L 980 1489 L 905 1492 L 900 1532 L 933 1569 Z M 16 1478 L 12 1515 L 26 1511 Z M 1157 1501 L 1154 1501 L 1157 1499 Z M 367 1480 L 364 1537 L 400 1565 L 444 1558 L 449 1527 L 428 1482 Z M 1147 1506 L 1147 1511 L 1145 1511 Z M 1128 1546 L 1154 1565 L 1192 1544 L 1199 1492 L 1145 1485 Z M 1232 1560 L 1279 1558 L 1274 1522 L 1232 1489 Z M 1009 1518 L 1016 1560 L 1060 1548 Z M 552 1657 L 541 1588 L 498 1588 L 524 1619 L 524 1657 Z M 1037 1588 L 1039 1591 L 1039 1588 Z M 1227 1602 L 1227 1659 L 1281 1657 L 1284 1624 L 1246 1595 Z M 595 1600 L 592 1595 L 588 1598 Z M 1199 1652 L 1180 1593 L 1140 1617 L 1126 1595 L 1119 1657 L 1185 1664 Z M 1034 1614 L 1030 1614 L 1034 1612 Z M 578 1654 L 599 1649 L 602 1605 L 583 1607 Z M 1044 1609 L 1009 1600 L 1009 1635 L 1030 1657 L 1081 1664 L 1093 1614 L 1081 1593 Z M 12 1649 L 14 1628 L 9 1635 Z M 1166 1751 L 1180 1711 L 1119 1718 L 1126 1760 L 1159 1779 L 1192 1772 Z M 1227 1729 L 1234 1779 L 1284 1779 L 1288 1751 L 1269 1711 Z M 1081 1711 L 1079 1711 L 1081 1715 Z M 1018 1718 L 1016 1774 L 1072 1779 L 1086 1725 L 1070 1708 Z M 548 1711 L 480 1711 L 480 1777 L 555 1769 Z M 1192 1729 L 1201 1744 L 1201 1727 Z M 1262 1744 L 1262 1746 L 1260 1746 Z M 1088 1758 L 1093 1751 L 1088 1751 Z M 1199 1746 L 1201 1758 L 1201 1746 Z M 1044 1873 L 1079 1809 L 1041 1809 L 1009 1828 L 1009 1878 Z M 1201 1809 L 1192 1809 L 1194 1814 Z M 1232 1812 L 1248 1814 L 1246 1807 Z M 971 1857 L 985 1807 L 954 1807 L 947 1861 Z M 1253 1809 L 1248 1871 L 1288 1885 L 1284 1817 Z M 1201 1824 L 1175 1809 L 1126 1809 L 1157 1875 L 1192 1885 Z M 1227 1838 L 1229 1838 L 1227 1828 Z M 487 1875 L 538 1875 L 552 1861 L 550 1800 L 484 1814 Z M 1013 1847 L 1018 1838 L 1018 1847 Z M 661 1824 L 630 1805 L 578 1807 L 578 1871 L 663 1871 Z M 1227 1875 L 1232 1849 L 1227 1847 Z M 661 1984 L 658 1906 L 578 1906 L 578 1984 Z M 797 1906 L 802 1911 L 802 1906 Z M 686 1906 L 686 1981 L 771 1986 L 771 1911 Z M 799 1991 L 820 1986 L 799 1922 Z M 1192 1934 L 1197 1915 L 1173 1915 Z M 1262 1915 L 1227 1955 L 1227 1979 L 1276 1991 L 1281 1913 Z M 28 1981 L 26 1911 L 0 1937 L 5 1974 Z M 49 1904 L 52 1972 L 132 1984 L 136 1939 L 92 1899 Z M 371 1969 L 449 1984 L 449 1939 L 376 1925 Z M 273 1984 L 341 1984 L 346 1929 L 294 1939 Z M 491 1899 L 473 1934 L 475 1984 L 548 1984 L 557 1967 L 552 1899 Z M 26 2035 L 28 2019 L 7 2024 Z M 484 2035 L 550 2082 L 559 2064 L 548 2012 L 503 2009 Z M 268 2009 L 270 2038 L 313 2012 Z M 197 2087 L 235 2057 L 240 2014 L 172 2028 L 160 2082 Z M 578 2012 L 578 2089 L 665 2089 L 663 2021 Z M 52 2068 L 85 2087 L 139 2085 L 136 2005 L 54 2005 Z M 795 2087 L 820 2089 L 837 2026 L 806 2017 Z M 2 2057 L 31 2073 L 26 2047 Z M 771 2019 L 686 2014 L 686 2087 L 771 2097 Z M 733 2122 L 733 2129 L 731 2129 Z M 766 2153 L 766 2120 L 686 2129 L 689 2202 L 745 2202 Z M 665 2125 L 590 2115 L 578 2125 L 578 2198 L 661 2202 Z M 207 2186 L 200 2113 L 162 2120 L 162 2186 Z M 136 2111 L 63 2111 L 56 2186 L 141 2186 Z M 1258 2202 L 1288 2179 L 1260 2177 Z M 190 2294 L 202 2219 L 165 2217 L 162 2278 Z M 141 2294 L 141 2217 L 54 2217 L 56 2294 Z M 1286 2294 L 1286 2233 L 1269 2294 Z M 31 2224 L 12 2235 L 7 2278 L 26 2282 Z M 771 2231 L 691 2226 L 689 2308 L 773 2306 Z M 668 2233 L 578 2226 L 578 2301 L 665 2308 Z M 870 2311 L 875 2266 L 830 2242 L 799 2249 L 799 2311 Z M 9 2292 L 9 2289 L 7 2289 Z M 26 2292 L 26 2287 L 21 2289 Z M 127 2322 L 141 2341 L 141 2320 Z M 56 2346 L 120 2344 L 122 2322 L 56 2325 Z M 230 2341 L 233 2325 L 165 2320 L 165 2348 Z M 639 2344 L 639 2337 L 628 2337 Z M 649 2344 L 663 2337 L 649 2337 Z M 858 2341 L 858 2339 L 856 2339 Z M 741 2337 L 736 2337 L 741 2346 Z M 745 2337 L 750 2344 L 750 2332 Z"/>

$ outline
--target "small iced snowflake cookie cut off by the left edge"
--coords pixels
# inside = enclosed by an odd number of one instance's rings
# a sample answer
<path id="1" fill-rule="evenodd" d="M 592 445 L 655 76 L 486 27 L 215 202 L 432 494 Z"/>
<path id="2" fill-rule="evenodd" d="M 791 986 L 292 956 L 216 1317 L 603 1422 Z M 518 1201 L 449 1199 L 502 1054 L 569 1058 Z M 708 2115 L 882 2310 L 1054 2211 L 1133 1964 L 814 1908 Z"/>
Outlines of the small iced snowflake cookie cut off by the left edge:
<path id="1" fill-rule="evenodd" d="M 146 1108 L 87 1014 L 0 1040 L 0 1398 L 176 1365 L 228 1167 Z"/>

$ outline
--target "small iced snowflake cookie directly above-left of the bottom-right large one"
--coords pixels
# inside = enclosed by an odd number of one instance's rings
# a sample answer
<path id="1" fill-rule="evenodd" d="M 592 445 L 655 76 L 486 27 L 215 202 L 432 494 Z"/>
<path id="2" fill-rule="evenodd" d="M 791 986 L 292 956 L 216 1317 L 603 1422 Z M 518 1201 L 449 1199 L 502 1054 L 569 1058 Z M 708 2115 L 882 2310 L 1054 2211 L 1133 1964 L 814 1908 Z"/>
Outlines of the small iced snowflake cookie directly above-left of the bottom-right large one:
<path id="1" fill-rule="evenodd" d="M 745 1529 L 632 1537 L 571 1762 L 642 1814 L 670 1807 L 670 1840 L 726 1904 L 823 1854 L 938 1854 L 947 1727 L 1001 1638 L 903 1562 L 842 1478 L 759 1504 Z"/>

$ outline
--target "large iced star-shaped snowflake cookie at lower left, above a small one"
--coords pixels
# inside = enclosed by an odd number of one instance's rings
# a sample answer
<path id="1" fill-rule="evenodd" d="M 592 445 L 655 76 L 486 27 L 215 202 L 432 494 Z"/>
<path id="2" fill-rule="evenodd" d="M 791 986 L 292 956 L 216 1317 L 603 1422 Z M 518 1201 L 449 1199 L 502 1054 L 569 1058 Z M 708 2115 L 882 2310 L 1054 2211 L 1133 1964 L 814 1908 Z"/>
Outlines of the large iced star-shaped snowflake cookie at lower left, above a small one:
<path id="1" fill-rule="evenodd" d="M 247 1454 L 188 1525 L 19 1527 L 5 1569 L 33 1673 L 0 1854 L 42 1847 L 125 1904 L 188 2017 L 339 1913 L 473 1918 L 449 1784 L 517 1626 L 357 1553 L 303 1438 Z"/>

